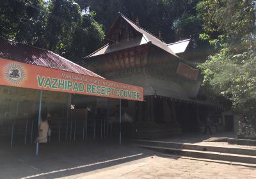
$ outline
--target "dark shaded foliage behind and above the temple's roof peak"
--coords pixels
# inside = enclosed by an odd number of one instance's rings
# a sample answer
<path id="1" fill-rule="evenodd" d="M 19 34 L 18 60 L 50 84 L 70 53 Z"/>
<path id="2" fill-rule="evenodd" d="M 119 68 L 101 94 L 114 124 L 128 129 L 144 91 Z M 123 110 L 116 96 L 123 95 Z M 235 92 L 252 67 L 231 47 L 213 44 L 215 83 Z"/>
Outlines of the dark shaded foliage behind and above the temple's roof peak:
<path id="1" fill-rule="evenodd" d="M 159 31 L 161 31 L 163 39 L 166 42 L 174 42 L 182 38 L 193 38 L 197 29 L 200 29 L 200 24 L 196 22 L 195 10 L 198 1 L 199 0 L 86 0 L 84 3 L 90 6 L 91 10 L 97 12 L 95 19 L 97 22 L 100 22 L 100 24 L 103 24 L 105 31 L 109 29 L 112 22 L 116 19 L 118 12 L 122 12 L 133 21 L 139 17 L 141 27 L 156 36 L 158 36 Z M 77 0 L 77 2 L 80 2 L 80 0 Z M 196 23 L 191 27 L 193 31 L 190 31 L 190 29 L 186 31 L 186 24 L 181 23 L 179 23 L 179 29 L 173 28 L 173 22 L 175 20 L 178 22 L 182 15 L 184 17 L 191 15 L 191 19 L 188 19 L 188 21 L 192 20 Z M 182 22 L 185 21 L 185 18 L 183 19 Z M 190 27 L 190 24 L 191 22 L 188 22 L 187 28 Z"/>

